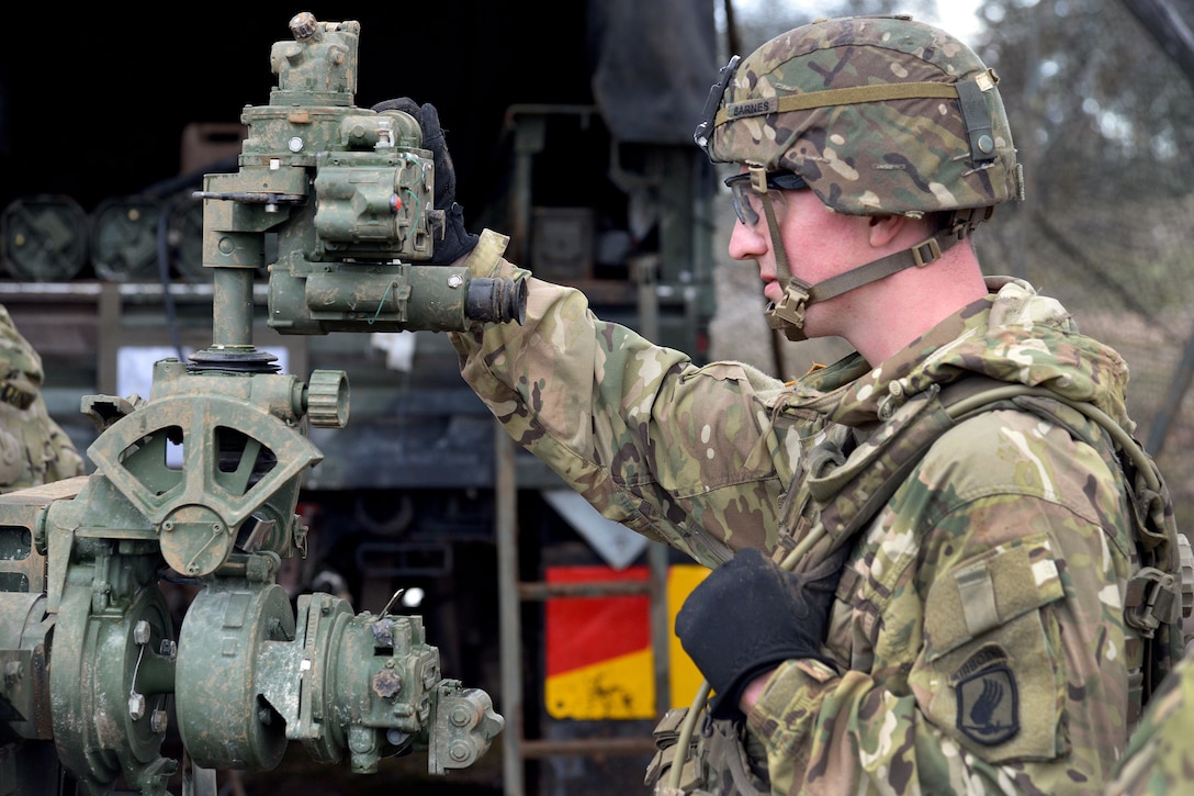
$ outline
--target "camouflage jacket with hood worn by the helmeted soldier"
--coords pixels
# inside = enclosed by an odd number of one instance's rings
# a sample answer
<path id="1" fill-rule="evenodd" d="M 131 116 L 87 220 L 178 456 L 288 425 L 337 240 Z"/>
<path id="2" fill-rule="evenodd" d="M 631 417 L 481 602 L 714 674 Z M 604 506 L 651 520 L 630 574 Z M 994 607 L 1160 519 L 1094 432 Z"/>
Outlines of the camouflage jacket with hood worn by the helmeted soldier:
<path id="1" fill-rule="evenodd" d="M 486 232 L 472 271 L 525 275 L 504 245 Z M 851 431 L 849 467 L 934 385 L 1047 386 L 1133 430 L 1121 357 L 1027 283 L 991 287 L 878 367 L 848 357 L 790 384 L 697 367 L 537 280 L 522 326 L 454 344 L 519 445 L 605 516 L 715 567 L 799 527 L 786 497 L 826 439 Z M 746 717 L 771 792 L 1102 792 L 1139 662 L 1122 608 L 1135 545 L 1106 436 L 1073 427 L 1018 410 L 960 423 L 855 534 L 836 666 L 788 661 Z"/>

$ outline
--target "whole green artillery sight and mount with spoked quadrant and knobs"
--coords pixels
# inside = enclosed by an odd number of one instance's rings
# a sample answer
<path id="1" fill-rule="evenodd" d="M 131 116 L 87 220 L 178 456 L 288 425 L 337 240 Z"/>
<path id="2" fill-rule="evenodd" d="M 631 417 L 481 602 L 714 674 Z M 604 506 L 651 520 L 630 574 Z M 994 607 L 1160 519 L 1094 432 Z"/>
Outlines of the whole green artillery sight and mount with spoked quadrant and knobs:
<path id="1" fill-rule="evenodd" d="M 425 751 L 444 773 L 504 727 L 488 694 L 442 676 L 420 617 L 319 593 L 294 608 L 277 583 L 306 550 L 301 477 L 322 459 L 304 423 L 344 427 L 349 391 L 254 348 L 261 268 L 287 335 L 525 312 L 522 282 L 417 264 L 442 232 L 433 161 L 414 118 L 353 106 L 359 27 L 296 16 L 270 105 L 244 111 L 239 172 L 205 178 L 213 344 L 159 361 L 148 400 L 84 399 L 91 476 L 0 496 L 0 792 L 165 794 L 172 723 L 184 790 L 213 796 L 216 770 L 272 770 L 290 741 L 358 773 Z M 178 632 L 162 581 L 196 589 Z"/>

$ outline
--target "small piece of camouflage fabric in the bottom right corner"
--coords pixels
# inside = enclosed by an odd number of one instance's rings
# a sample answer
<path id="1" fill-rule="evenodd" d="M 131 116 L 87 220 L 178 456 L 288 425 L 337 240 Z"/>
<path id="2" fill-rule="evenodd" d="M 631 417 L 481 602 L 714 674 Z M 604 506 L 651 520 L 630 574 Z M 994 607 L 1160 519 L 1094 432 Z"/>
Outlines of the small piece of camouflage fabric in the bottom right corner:
<path id="1" fill-rule="evenodd" d="M 1194 783 L 1194 649 L 1161 684 L 1107 796 L 1178 796 Z"/>

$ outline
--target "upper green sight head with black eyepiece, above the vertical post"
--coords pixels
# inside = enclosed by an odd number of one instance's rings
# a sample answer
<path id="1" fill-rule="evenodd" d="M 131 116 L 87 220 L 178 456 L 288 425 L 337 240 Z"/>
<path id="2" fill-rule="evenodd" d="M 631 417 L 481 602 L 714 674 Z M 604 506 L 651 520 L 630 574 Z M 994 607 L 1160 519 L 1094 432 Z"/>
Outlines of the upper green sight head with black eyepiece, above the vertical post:
<path id="1" fill-rule="evenodd" d="M 296 41 L 270 57 L 270 105 L 241 117 L 240 172 L 209 174 L 198 194 L 204 265 L 256 269 L 272 237 L 269 324 L 283 335 L 521 320 L 523 282 L 398 259 L 430 259 L 443 234 L 423 130 L 408 114 L 352 106 L 359 24 L 298 14 L 290 27 Z"/>

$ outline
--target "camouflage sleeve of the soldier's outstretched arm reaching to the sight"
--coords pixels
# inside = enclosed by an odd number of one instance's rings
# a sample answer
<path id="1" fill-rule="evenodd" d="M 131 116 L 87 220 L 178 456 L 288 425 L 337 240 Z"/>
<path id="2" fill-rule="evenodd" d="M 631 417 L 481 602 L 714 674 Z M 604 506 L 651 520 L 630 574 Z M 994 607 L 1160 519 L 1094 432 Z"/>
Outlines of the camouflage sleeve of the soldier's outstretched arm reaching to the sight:
<path id="1" fill-rule="evenodd" d="M 461 373 L 506 431 L 607 518 L 713 567 L 775 545 L 798 453 L 773 423 L 783 385 L 750 366 L 696 366 L 599 320 L 577 289 L 533 278 L 481 235 L 474 276 L 528 278 L 522 325 L 453 333 Z"/>

